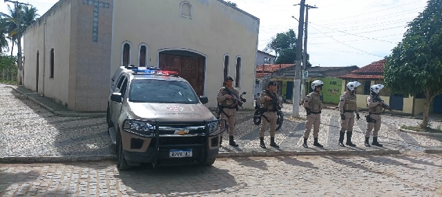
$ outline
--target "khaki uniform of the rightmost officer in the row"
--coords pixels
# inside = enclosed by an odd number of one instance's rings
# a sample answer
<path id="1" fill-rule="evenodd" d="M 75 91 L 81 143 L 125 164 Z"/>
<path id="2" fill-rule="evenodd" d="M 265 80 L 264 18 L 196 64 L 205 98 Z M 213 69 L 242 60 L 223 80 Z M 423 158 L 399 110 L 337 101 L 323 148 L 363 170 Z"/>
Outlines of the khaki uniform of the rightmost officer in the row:
<path id="1" fill-rule="evenodd" d="M 377 102 L 373 101 L 374 96 L 370 95 L 367 97 L 367 108 L 369 116 L 376 121 L 376 123 L 367 123 L 367 131 L 365 132 L 365 138 L 369 138 L 370 132 L 373 131 L 373 139 L 378 137 L 379 129 L 381 129 L 381 112 L 383 110 L 382 105 L 379 105 Z"/>

